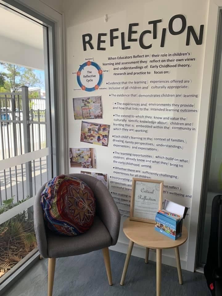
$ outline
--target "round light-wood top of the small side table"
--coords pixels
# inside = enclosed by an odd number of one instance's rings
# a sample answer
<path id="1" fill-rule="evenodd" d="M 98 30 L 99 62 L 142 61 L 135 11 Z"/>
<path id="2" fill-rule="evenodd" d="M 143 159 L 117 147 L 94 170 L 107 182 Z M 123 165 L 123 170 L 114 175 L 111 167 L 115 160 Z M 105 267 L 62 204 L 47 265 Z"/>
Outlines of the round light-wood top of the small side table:
<path id="1" fill-rule="evenodd" d="M 171 249 L 183 245 L 187 240 L 187 228 L 183 226 L 182 236 L 177 240 L 157 232 L 155 224 L 126 219 L 123 224 L 125 235 L 134 243 L 151 249 Z"/>

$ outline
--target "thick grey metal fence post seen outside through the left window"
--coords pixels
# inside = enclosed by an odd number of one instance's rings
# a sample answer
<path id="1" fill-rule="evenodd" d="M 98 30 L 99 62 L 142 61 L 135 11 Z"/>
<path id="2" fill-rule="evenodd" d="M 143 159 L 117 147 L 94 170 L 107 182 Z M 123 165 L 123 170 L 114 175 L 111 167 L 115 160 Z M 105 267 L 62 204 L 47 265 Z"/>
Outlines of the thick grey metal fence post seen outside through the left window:
<path id="1" fill-rule="evenodd" d="M 24 131 L 24 153 L 31 152 L 31 136 L 30 136 L 30 123 L 29 123 L 29 97 L 28 87 L 22 86 L 22 110 L 23 110 L 23 131 Z M 26 187 L 27 195 L 33 196 L 32 190 L 32 167 L 31 161 L 26 163 Z"/>

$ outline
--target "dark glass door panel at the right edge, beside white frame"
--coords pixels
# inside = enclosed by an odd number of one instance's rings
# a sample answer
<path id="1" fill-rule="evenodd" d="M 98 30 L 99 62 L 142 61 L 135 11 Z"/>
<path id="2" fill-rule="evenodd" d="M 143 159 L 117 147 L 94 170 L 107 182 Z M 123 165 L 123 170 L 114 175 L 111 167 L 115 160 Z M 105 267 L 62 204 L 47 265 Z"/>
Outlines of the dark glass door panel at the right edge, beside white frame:
<path id="1" fill-rule="evenodd" d="M 217 55 L 212 90 L 211 116 L 208 131 L 208 146 L 205 160 L 205 176 L 202 193 L 202 209 L 199 231 L 197 266 L 203 267 L 207 260 L 211 208 L 214 196 L 222 194 L 222 25 L 219 22 Z"/>

